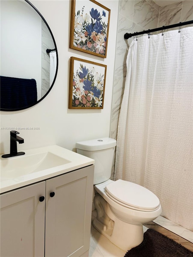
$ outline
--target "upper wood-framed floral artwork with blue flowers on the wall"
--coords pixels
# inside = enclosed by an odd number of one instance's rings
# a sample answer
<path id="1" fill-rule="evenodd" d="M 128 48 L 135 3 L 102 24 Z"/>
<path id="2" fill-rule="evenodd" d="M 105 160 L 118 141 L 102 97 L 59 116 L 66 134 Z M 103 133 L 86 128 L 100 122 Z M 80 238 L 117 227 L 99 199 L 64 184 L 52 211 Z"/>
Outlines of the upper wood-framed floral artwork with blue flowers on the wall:
<path id="1" fill-rule="evenodd" d="M 94 0 L 71 1 L 70 48 L 106 58 L 110 9 Z"/>

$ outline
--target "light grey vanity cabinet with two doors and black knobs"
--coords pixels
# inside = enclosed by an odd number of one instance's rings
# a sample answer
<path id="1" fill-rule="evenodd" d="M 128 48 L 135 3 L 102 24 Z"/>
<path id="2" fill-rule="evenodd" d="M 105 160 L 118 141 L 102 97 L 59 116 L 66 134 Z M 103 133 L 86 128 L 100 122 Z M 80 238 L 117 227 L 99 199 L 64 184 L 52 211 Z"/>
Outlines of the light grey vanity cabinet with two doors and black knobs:
<path id="1" fill-rule="evenodd" d="M 93 171 L 90 165 L 1 194 L 0 256 L 88 256 Z"/>

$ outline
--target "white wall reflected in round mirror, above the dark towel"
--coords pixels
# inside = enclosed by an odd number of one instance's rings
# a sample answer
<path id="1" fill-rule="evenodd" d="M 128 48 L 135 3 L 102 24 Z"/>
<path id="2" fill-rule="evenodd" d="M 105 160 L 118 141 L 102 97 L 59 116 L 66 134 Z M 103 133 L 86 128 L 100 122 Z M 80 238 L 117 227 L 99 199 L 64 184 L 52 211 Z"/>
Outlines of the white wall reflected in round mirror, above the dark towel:
<path id="1" fill-rule="evenodd" d="M 1 1 L 1 76 L 35 79 L 38 99 L 42 82 L 41 21 L 26 2 Z"/>

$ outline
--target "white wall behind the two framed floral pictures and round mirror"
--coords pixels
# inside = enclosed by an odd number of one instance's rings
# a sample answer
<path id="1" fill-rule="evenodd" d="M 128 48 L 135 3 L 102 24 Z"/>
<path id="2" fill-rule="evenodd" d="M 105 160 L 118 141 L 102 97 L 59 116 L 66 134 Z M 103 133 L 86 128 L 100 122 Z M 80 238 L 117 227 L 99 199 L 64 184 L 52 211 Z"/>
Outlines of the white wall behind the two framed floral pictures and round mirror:
<path id="1" fill-rule="evenodd" d="M 39 104 L 22 111 L 1 111 L 1 153 L 9 152 L 10 129 L 3 127 L 39 127 L 19 130 L 24 144 L 18 150 L 57 144 L 75 151 L 75 143 L 109 136 L 113 72 L 118 19 L 117 0 L 98 1 L 111 9 L 107 58 L 100 58 L 69 49 L 70 1 L 31 1 L 46 19 L 55 37 L 58 54 L 58 75 L 51 92 Z M 107 65 L 104 108 L 101 110 L 68 109 L 70 57 L 83 58 Z"/>

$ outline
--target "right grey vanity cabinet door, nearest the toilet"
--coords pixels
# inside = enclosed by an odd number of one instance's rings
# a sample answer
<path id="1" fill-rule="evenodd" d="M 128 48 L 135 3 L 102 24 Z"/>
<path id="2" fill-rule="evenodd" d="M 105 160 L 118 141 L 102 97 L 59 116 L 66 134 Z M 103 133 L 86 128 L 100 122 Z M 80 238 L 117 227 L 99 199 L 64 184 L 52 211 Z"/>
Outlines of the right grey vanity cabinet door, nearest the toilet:
<path id="1" fill-rule="evenodd" d="M 89 249 L 93 173 L 92 165 L 46 180 L 46 257 L 77 257 Z"/>

